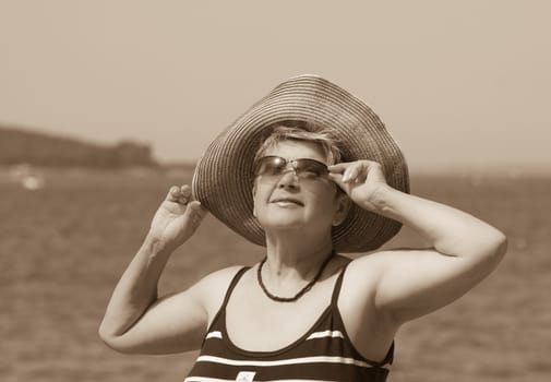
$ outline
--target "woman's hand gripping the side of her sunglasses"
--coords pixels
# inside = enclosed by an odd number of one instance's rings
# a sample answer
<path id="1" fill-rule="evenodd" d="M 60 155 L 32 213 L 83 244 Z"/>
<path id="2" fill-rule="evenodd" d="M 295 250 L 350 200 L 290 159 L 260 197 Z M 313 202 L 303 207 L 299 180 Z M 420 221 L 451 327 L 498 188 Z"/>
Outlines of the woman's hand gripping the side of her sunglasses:
<path id="1" fill-rule="evenodd" d="M 388 184 L 381 165 L 372 160 L 356 160 L 328 166 L 330 178 L 359 206 L 376 212 L 376 199 Z"/>

